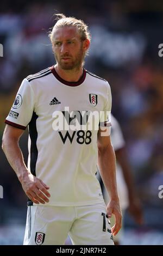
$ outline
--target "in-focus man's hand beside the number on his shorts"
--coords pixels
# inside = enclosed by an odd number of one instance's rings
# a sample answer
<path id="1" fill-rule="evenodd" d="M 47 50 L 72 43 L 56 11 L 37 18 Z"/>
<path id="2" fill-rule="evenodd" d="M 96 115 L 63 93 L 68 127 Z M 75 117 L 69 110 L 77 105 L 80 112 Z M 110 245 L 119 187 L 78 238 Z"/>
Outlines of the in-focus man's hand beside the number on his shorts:
<path id="1" fill-rule="evenodd" d="M 111 228 L 112 235 L 116 235 L 122 227 L 122 213 L 120 203 L 117 200 L 110 200 L 106 207 L 108 218 L 111 218 L 112 214 L 115 215 L 115 225 Z"/>

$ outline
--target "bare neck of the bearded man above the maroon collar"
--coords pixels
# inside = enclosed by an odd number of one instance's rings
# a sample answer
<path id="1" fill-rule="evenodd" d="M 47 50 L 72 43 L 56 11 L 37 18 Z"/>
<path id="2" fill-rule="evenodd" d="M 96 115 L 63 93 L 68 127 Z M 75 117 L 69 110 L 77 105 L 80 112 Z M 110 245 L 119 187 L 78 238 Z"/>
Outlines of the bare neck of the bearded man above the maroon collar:
<path id="1" fill-rule="evenodd" d="M 80 66 L 78 69 L 64 70 L 59 67 L 58 64 L 54 65 L 58 75 L 67 82 L 78 82 L 80 77 L 83 75 L 83 67 Z"/>

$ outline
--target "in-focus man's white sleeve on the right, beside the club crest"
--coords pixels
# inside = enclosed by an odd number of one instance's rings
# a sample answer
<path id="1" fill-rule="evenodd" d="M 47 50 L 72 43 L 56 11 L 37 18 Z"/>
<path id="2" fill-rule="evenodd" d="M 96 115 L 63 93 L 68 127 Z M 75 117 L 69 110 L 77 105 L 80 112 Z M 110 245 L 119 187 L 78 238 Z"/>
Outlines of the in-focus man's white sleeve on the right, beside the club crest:
<path id="1" fill-rule="evenodd" d="M 99 126 L 101 127 L 109 127 L 111 126 L 111 89 L 108 82 L 107 83 L 107 92 L 106 92 L 106 100 L 105 100 L 105 106 L 103 111 L 100 115 L 100 123 Z"/>

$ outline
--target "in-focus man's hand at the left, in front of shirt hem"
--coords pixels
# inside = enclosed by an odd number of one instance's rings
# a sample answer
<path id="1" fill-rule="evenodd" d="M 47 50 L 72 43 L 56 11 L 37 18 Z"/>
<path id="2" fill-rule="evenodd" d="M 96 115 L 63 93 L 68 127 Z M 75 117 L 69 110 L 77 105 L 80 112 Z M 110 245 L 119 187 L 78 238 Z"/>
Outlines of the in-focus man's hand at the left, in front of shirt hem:
<path id="1" fill-rule="evenodd" d="M 32 173 L 26 172 L 23 179 L 21 179 L 21 184 L 24 192 L 35 204 L 49 202 L 48 197 L 51 196 L 47 191 L 49 187 Z"/>

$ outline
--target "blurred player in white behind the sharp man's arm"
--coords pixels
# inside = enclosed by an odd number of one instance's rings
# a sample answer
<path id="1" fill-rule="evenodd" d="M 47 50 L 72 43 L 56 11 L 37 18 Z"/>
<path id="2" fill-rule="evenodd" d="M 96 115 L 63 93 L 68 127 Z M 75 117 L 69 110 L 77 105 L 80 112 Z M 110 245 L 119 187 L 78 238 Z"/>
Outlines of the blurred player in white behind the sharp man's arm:
<path id="1" fill-rule="evenodd" d="M 116 154 L 116 178 L 117 178 L 117 188 L 118 194 L 120 197 L 120 205 L 123 212 L 128 208 L 130 215 L 133 216 L 137 224 L 143 223 L 142 217 L 142 208 L 140 204 L 140 199 L 137 197 L 136 189 L 134 186 L 133 176 L 131 174 L 131 168 L 126 154 L 126 147 L 121 131 L 120 124 L 117 119 L 111 114 L 111 143 L 114 147 Z M 109 202 L 108 193 L 104 188 L 101 176 L 99 172 L 97 178 L 101 184 L 103 196 L 105 203 Z M 114 223 L 114 220 L 111 218 L 111 225 Z M 121 231 L 114 237 L 114 242 L 116 245 L 120 244 Z"/>

